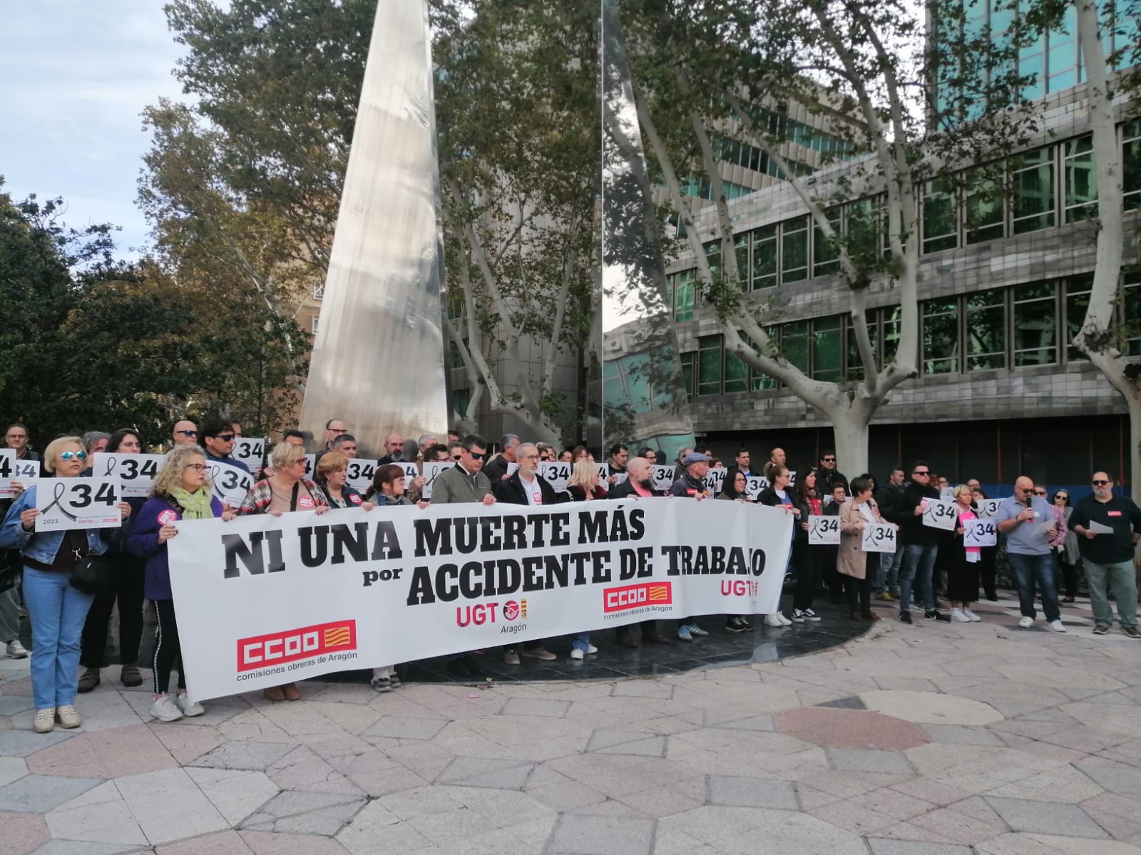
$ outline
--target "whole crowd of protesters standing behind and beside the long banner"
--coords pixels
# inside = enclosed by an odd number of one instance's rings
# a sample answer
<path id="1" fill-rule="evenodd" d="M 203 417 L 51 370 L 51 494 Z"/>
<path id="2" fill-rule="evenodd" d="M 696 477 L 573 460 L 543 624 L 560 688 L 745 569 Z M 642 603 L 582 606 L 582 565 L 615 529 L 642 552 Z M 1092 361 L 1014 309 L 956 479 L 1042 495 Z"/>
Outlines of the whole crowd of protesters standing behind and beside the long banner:
<path id="1" fill-rule="evenodd" d="M 149 496 L 119 503 L 120 528 L 35 531 L 35 518 L 40 514 L 37 487 L 29 484 L 25 489 L 18 480 L 13 481 L 13 499 L 0 523 L 0 548 L 18 553 L 16 564 L 22 568 L 22 580 L 19 586 L 0 591 L 0 642 L 6 644 L 9 657 L 29 656 L 18 637 L 22 596 L 32 627 L 31 681 L 37 732 L 49 732 L 56 724 L 63 727 L 80 724 L 75 695 L 94 690 L 100 682 L 108 622 L 116 604 L 120 681 L 126 686 L 141 685 L 138 657 L 144 600 L 154 604 L 156 614 L 151 662 L 152 716 L 160 722 L 173 722 L 203 714 L 202 706 L 187 694 L 167 559 L 168 543 L 177 537 L 183 520 L 229 520 L 245 514 L 280 515 L 298 511 L 322 514 L 346 507 L 372 511 L 412 504 L 421 508 L 429 504 L 463 503 L 535 506 L 664 496 L 758 502 L 793 518 L 786 568 L 793 588 L 792 603 L 787 614 L 782 609 L 763 616 L 768 627 L 819 621 L 814 604 L 820 596 L 847 604 L 849 618 L 856 621 L 880 619 L 872 609 L 873 597 L 897 603 L 898 619 L 905 624 L 913 622 L 913 601 L 916 609 L 922 606 L 926 620 L 973 622 L 981 620 L 972 610 L 980 598 L 980 588 L 986 598 L 997 600 L 998 546 L 974 545 L 966 538 L 966 530 L 980 516 L 980 503 L 987 496 L 976 479 L 950 487 L 924 461 L 916 461 L 908 470 L 895 469 L 881 486 L 867 473 L 849 482 L 831 450 L 820 455 L 816 464 L 791 471 L 784 450 L 775 448 L 758 472 L 751 453 L 741 449 L 726 469 L 720 488 L 714 490 L 710 467 L 720 461 L 704 447 L 682 448 L 675 459 L 666 461 L 653 448 L 639 448 L 631 456 L 626 445 L 617 443 L 607 450 L 605 465 L 600 466 L 585 446 L 559 451 L 548 443 L 526 442 L 513 434 L 503 437 L 499 453 L 491 455 L 488 442 L 476 434 L 461 439 L 452 432 L 446 441 L 424 434 L 405 441 L 400 434 L 391 433 L 385 440 L 386 455 L 378 462 L 372 483 L 362 494 L 348 483 L 348 467 L 357 456 L 357 441 L 341 420 L 326 423 L 311 478 L 307 474 L 304 433 L 288 431 L 252 472 L 233 456 L 241 437 L 242 425 L 229 420 L 211 420 L 201 429 L 191 420 L 176 423 L 170 450 Z M 24 425 L 8 427 L 6 445 L 15 451 L 16 459 L 34 462 L 37 474 L 44 478 L 90 474 L 94 455 L 99 451 L 147 453 L 133 429 L 60 437 L 47 446 L 42 461 L 31 450 Z M 422 464 L 435 461 L 455 465 L 436 477 L 429 498 Z M 569 464 L 565 489 L 557 490 L 540 473 L 542 463 L 555 461 Z M 211 462 L 250 472 L 254 482 L 244 500 L 234 506 L 219 500 L 210 481 Z M 419 464 L 421 474 L 408 478 L 400 465 L 407 463 Z M 662 489 L 661 474 L 655 478 L 654 467 L 663 465 L 674 467 L 667 489 Z M 753 495 L 751 479 L 756 475 L 763 477 L 764 486 L 759 495 Z M 1053 632 L 1066 632 L 1055 577 L 1060 575 L 1065 581 L 1062 602 L 1073 602 L 1081 562 L 1090 588 L 1094 634 L 1103 635 L 1112 625 L 1109 600 L 1112 592 L 1120 632 L 1130 638 L 1141 638 L 1133 569 L 1134 544 L 1141 539 L 1141 510 L 1114 494 L 1112 480 L 1104 472 L 1094 473 L 1091 486 L 1092 495 L 1071 506 L 1065 490 L 1055 491 L 1047 500 L 1045 488 L 1019 478 L 1013 495 L 998 502 L 988 514 L 1005 539 L 1006 562 L 1019 595 L 1019 625 L 1023 628 L 1034 625 L 1041 596 L 1046 626 Z M 954 503 L 954 524 L 946 530 L 925 524 L 925 511 L 932 503 L 946 499 Z M 839 543 L 814 543 L 810 536 L 814 516 L 839 518 Z M 895 532 L 895 552 L 865 551 L 864 532 L 876 523 Z M 112 569 L 111 586 L 96 594 L 83 593 L 70 584 L 76 567 L 90 556 L 102 556 Z M 681 618 L 672 633 L 657 620 L 624 626 L 616 630 L 616 643 L 637 648 L 640 643 L 672 644 L 673 638 L 693 642 L 710 634 L 699 625 L 698 617 Z M 725 628 L 730 633 L 754 629 L 745 614 L 727 616 Z M 578 633 L 572 638 L 570 659 L 582 660 L 596 653 L 598 649 L 591 643 L 590 633 Z M 524 658 L 543 661 L 558 658 L 541 640 L 505 645 L 497 654 L 511 666 Z M 453 656 L 446 667 L 452 675 L 468 678 L 484 673 L 480 658 L 476 653 Z M 178 681 L 171 693 L 170 679 L 176 670 Z M 400 679 L 395 665 L 374 668 L 372 685 L 379 692 L 398 687 Z M 301 698 L 301 691 L 296 683 L 285 683 L 265 690 L 265 697 L 270 701 L 294 701 Z"/>

